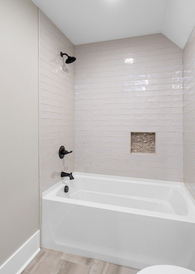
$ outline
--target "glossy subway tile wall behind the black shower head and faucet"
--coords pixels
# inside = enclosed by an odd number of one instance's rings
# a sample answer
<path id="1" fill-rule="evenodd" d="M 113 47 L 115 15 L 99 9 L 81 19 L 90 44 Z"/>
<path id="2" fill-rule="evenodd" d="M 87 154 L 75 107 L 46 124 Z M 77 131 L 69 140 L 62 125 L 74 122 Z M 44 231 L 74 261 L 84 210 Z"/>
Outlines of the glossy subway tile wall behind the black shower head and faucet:
<path id="1" fill-rule="evenodd" d="M 39 10 L 40 193 L 74 171 L 74 45 Z M 73 153 L 59 158 L 61 145 Z"/>

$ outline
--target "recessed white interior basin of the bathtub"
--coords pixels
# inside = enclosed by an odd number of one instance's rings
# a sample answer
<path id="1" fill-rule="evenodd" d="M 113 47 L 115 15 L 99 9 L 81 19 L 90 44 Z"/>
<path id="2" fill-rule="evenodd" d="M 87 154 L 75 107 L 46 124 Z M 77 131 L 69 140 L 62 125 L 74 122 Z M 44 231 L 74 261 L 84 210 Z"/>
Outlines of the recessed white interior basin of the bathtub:
<path id="1" fill-rule="evenodd" d="M 186 216 L 188 204 L 182 183 L 162 181 L 137 181 L 133 178 L 95 177 L 91 174 L 74 174 L 74 180 L 64 179 L 56 193 L 57 197 L 121 206 L 159 213 Z M 64 192 L 64 186 L 69 192 Z"/>

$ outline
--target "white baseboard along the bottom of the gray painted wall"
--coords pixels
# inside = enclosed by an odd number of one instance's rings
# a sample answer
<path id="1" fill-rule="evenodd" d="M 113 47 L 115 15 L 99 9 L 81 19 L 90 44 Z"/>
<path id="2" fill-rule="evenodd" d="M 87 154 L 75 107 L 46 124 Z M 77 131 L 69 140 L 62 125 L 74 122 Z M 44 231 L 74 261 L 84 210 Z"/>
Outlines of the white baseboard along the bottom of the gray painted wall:
<path id="1" fill-rule="evenodd" d="M 39 237 L 38 230 L 0 266 L 0 274 L 21 274 L 40 251 Z"/>

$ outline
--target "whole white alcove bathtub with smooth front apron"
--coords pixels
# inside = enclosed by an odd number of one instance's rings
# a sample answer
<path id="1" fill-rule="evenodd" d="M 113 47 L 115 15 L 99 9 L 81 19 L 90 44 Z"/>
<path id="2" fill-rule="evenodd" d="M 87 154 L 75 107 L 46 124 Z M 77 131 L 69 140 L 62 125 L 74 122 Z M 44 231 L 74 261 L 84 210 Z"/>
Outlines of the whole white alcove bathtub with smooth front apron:
<path id="1" fill-rule="evenodd" d="M 73 176 L 42 195 L 43 247 L 137 269 L 195 270 L 195 201 L 183 183 Z"/>

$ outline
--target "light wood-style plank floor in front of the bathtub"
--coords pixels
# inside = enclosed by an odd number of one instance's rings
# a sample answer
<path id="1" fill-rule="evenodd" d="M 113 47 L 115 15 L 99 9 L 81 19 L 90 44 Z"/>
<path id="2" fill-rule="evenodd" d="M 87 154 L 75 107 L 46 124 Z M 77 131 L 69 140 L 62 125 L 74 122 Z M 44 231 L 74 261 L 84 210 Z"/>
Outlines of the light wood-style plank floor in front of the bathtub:
<path id="1" fill-rule="evenodd" d="M 115 265 L 41 247 L 21 274 L 136 274 L 139 269 Z"/>

